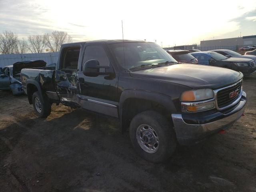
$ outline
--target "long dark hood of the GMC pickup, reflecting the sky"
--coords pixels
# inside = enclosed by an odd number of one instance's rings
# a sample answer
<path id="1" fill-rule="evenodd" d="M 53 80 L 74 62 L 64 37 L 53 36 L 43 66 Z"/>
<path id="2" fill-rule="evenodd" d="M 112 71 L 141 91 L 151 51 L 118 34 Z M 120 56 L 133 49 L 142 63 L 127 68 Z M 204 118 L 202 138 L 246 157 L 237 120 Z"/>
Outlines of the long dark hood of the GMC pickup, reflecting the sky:
<path id="1" fill-rule="evenodd" d="M 134 78 L 147 78 L 188 86 L 217 89 L 234 84 L 243 74 L 226 68 L 197 64 L 174 64 L 130 72 Z"/>

